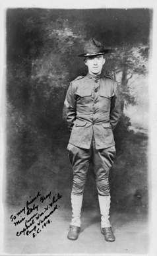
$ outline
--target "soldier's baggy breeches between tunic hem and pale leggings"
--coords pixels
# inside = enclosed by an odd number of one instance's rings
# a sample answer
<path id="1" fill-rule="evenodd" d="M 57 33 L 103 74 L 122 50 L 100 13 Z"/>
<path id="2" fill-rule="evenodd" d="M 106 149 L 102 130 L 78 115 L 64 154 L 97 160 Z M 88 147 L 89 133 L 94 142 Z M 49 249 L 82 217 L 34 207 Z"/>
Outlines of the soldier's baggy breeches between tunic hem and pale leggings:
<path id="1" fill-rule="evenodd" d="M 90 149 L 78 148 L 68 144 L 69 160 L 73 168 L 74 195 L 82 195 L 86 182 L 89 163 L 92 162 L 96 176 L 98 195 L 110 195 L 109 172 L 115 158 L 115 146 L 96 149 L 94 138 Z"/>

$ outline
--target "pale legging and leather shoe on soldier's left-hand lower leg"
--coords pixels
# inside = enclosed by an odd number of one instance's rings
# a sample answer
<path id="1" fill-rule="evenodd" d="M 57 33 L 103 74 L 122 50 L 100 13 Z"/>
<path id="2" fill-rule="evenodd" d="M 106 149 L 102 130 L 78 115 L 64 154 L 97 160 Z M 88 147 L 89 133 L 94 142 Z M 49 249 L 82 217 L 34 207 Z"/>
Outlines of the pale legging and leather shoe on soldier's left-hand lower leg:
<path id="1" fill-rule="evenodd" d="M 69 240 L 77 240 L 78 233 L 80 232 L 80 212 L 82 208 L 83 195 L 71 194 L 71 207 L 72 207 L 72 220 L 70 224 L 70 230 L 67 235 Z"/>

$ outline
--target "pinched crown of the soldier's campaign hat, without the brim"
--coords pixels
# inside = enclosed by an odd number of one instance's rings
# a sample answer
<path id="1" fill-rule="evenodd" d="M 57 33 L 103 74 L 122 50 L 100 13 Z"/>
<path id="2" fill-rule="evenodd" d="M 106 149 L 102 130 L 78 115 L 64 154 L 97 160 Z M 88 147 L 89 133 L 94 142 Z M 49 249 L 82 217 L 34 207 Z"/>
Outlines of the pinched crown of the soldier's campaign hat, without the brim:
<path id="1" fill-rule="evenodd" d="M 104 51 L 104 46 L 94 38 L 90 38 L 84 46 L 84 53 L 100 53 Z"/>

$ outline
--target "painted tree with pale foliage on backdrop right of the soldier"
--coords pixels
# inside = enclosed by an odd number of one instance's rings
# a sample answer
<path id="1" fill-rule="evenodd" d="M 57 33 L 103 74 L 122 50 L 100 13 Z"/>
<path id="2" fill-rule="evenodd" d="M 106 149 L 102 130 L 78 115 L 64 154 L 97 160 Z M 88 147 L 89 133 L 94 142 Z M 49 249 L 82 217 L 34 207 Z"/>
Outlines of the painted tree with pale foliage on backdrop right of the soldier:
<path id="1" fill-rule="evenodd" d="M 130 105 L 135 106 L 137 104 L 137 95 L 135 91 L 131 91 L 129 80 L 135 79 L 136 75 L 147 77 L 148 53 L 148 44 L 139 44 L 137 46 L 126 44 L 123 48 L 115 48 L 115 51 L 111 53 L 110 59 L 106 64 L 109 75 L 117 80 L 120 90 L 121 119 L 119 120 L 115 133 L 117 145 L 123 143 L 123 139 L 128 135 L 128 127 L 131 126 L 130 119 L 125 115 L 124 110 Z M 121 137 L 123 138 L 122 141 Z M 120 148 L 123 147 L 120 146 Z"/>

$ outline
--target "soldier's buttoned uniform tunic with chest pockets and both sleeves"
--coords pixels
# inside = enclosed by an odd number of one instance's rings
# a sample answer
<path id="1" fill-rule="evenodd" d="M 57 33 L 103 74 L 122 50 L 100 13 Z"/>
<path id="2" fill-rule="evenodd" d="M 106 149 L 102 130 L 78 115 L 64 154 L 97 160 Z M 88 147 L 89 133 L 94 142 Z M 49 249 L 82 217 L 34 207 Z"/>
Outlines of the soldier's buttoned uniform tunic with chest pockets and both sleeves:
<path id="1" fill-rule="evenodd" d="M 102 75 L 78 77 L 67 90 L 65 112 L 70 144 L 90 148 L 94 133 L 96 149 L 113 146 L 120 114 L 117 82 Z"/>

